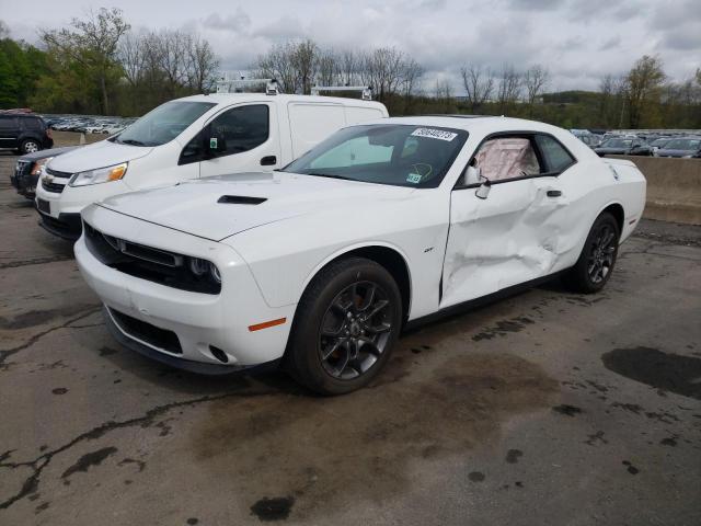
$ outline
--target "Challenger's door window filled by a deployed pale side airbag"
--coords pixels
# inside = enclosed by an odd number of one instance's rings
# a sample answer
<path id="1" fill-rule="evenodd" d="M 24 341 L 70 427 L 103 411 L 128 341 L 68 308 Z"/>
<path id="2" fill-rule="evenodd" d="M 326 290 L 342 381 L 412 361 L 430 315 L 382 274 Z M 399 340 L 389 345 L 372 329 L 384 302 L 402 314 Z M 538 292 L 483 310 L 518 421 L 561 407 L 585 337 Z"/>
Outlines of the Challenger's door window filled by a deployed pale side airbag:
<path id="1" fill-rule="evenodd" d="M 518 179 L 541 173 L 532 142 L 528 137 L 497 137 L 485 141 L 474 156 L 471 167 L 490 181 Z M 467 184 L 478 181 L 471 181 Z"/>

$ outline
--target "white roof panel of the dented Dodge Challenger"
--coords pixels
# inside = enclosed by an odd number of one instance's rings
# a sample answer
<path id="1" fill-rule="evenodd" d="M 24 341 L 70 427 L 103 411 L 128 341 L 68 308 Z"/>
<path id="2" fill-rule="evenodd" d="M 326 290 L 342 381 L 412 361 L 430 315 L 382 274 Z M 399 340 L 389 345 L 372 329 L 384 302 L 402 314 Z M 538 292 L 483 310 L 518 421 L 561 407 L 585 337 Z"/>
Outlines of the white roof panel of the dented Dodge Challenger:
<path id="1" fill-rule="evenodd" d="M 473 134 L 492 134 L 498 132 L 543 132 L 550 134 L 570 134 L 564 128 L 559 128 L 558 126 L 552 126 L 550 124 L 541 123 L 538 121 L 475 115 L 425 115 L 415 117 L 389 117 L 383 119 L 368 121 L 363 124 L 404 124 L 410 126 L 437 126 L 444 128 L 464 129 Z"/>

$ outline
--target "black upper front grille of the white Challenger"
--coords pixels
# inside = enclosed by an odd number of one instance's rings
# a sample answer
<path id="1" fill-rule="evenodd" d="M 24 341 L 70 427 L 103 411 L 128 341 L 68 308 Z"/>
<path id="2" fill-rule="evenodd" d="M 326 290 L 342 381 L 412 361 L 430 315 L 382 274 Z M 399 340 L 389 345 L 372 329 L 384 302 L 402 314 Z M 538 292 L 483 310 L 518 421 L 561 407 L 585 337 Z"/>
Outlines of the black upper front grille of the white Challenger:
<path id="1" fill-rule="evenodd" d="M 192 293 L 219 294 L 208 274 L 195 276 L 185 256 L 107 236 L 83 222 L 88 250 L 103 264 L 130 276 Z"/>

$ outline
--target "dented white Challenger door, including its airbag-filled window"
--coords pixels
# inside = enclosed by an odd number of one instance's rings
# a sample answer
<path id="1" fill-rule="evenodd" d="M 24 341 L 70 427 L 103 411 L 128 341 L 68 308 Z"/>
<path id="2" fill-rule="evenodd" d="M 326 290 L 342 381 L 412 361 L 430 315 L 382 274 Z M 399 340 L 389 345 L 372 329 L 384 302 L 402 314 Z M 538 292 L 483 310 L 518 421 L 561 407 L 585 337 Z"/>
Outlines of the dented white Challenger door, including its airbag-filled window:
<path id="1" fill-rule="evenodd" d="M 568 201 L 541 142 L 510 134 L 478 148 L 466 176 L 476 168 L 491 185 L 463 180 L 451 192 L 440 308 L 545 276 L 556 265 Z"/>

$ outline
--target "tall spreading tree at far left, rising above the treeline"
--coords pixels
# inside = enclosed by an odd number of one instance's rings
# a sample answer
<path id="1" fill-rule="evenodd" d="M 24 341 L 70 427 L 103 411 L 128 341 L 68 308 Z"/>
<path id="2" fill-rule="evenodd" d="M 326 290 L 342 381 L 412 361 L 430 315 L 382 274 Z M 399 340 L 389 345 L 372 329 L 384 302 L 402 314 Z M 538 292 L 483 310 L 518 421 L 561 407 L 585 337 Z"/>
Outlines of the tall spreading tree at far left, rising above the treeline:
<path id="1" fill-rule="evenodd" d="M 49 48 L 66 54 L 94 73 L 102 98 L 102 110 L 110 113 L 107 76 L 117 64 L 119 38 L 129 30 L 119 9 L 89 11 L 85 20 L 72 19 L 71 28 L 39 30 Z"/>

